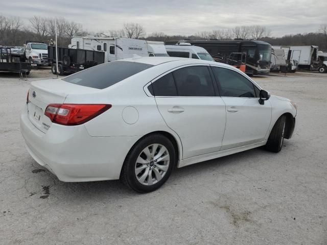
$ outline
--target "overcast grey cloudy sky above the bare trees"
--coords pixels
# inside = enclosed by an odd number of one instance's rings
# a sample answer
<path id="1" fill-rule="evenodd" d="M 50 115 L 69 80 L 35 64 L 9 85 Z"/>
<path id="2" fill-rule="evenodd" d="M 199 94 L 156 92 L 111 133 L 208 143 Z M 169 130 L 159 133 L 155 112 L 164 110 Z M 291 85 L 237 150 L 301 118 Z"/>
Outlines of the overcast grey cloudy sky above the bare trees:
<path id="1" fill-rule="evenodd" d="M 327 0 L 14 0 L 6 16 L 65 17 L 94 32 L 121 29 L 137 22 L 146 33 L 192 35 L 201 31 L 260 24 L 271 36 L 316 32 L 327 24 Z"/>

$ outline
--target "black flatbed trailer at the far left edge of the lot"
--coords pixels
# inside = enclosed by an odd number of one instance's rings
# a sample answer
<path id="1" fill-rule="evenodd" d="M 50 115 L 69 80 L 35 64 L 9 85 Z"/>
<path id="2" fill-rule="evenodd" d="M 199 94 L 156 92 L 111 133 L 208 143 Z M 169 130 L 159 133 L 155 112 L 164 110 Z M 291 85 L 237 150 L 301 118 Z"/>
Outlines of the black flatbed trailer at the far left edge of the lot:
<path id="1" fill-rule="evenodd" d="M 29 75 L 31 64 L 22 62 L 21 55 L 11 53 L 10 47 L 0 46 L 0 71 Z"/>

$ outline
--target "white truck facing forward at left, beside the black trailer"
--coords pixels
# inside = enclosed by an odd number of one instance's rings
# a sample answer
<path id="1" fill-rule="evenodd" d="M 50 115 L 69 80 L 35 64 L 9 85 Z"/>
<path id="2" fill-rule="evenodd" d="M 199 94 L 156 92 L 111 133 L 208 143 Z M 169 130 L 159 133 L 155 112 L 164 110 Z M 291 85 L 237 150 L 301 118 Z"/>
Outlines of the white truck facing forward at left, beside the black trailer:
<path id="1" fill-rule="evenodd" d="M 49 65 L 48 45 L 45 43 L 28 42 L 25 56 L 32 65 Z"/>

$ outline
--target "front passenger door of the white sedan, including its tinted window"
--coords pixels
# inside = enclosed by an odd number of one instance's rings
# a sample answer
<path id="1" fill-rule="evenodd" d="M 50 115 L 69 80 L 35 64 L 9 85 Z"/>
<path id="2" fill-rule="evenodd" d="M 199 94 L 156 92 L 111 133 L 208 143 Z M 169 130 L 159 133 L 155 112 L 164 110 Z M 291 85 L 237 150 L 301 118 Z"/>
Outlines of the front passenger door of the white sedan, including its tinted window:
<path id="1" fill-rule="evenodd" d="M 221 150 L 261 142 L 271 121 L 271 104 L 260 105 L 259 89 L 235 70 L 212 66 L 226 104 L 226 129 Z"/>

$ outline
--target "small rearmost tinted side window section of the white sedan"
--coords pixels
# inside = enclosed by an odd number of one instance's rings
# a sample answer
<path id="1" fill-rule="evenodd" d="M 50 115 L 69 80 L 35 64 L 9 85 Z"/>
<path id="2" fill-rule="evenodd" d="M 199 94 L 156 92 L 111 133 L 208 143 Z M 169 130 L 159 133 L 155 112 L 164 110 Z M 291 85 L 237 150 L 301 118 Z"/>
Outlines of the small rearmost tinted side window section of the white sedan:
<path id="1" fill-rule="evenodd" d="M 174 77 L 171 73 L 159 78 L 157 81 L 152 83 L 152 88 L 152 95 L 155 96 L 177 96 Z M 150 89 L 149 91 L 151 92 Z"/>

